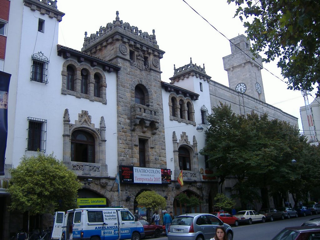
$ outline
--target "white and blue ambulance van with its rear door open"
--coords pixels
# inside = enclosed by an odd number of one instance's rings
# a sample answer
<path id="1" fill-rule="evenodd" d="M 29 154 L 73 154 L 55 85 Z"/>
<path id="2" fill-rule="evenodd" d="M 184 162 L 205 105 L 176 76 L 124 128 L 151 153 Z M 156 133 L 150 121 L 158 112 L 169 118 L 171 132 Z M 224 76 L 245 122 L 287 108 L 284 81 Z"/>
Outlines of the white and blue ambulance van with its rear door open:
<path id="1" fill-rule="evenodd" d="M 126 208 L 77 208 L 56 212 L 52 240 L 140 240 L 140 221 Z"/>

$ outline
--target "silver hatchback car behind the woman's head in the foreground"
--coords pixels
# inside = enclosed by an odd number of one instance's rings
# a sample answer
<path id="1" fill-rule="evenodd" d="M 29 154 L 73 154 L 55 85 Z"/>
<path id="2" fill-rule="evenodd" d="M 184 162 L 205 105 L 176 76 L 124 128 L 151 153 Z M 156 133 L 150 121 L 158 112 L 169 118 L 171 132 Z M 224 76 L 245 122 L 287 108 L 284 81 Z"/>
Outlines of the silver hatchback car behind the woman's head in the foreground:
<path id="1" fill-rule="evenodd" d="M 216 227 L 223 226 L 228 240 L 233 239 L 233 230 L 227 223 L 209 213 L 182 214 L 172 220 L 168 240 L 209 240 L 215 235 Z"/>

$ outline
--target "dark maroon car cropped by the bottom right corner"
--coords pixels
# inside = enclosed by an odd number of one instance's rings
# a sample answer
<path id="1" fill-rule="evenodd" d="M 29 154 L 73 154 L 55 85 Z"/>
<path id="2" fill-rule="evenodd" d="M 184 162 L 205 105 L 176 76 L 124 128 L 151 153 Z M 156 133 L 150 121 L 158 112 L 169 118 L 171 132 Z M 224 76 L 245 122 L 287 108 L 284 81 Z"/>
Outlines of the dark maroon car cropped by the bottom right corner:
<path id="1" fill-rule="evenodd" d="M 300 226 L 282 229 L 272 240 L 320 239 L 320 226 Z"/>

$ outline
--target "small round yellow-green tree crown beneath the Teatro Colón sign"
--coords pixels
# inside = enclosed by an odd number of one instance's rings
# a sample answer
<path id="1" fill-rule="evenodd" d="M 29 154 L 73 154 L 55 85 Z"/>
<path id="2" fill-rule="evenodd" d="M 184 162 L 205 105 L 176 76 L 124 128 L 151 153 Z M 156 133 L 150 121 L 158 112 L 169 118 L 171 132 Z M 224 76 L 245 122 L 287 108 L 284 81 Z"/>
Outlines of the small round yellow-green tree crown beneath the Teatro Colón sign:
<path id="1" fill-rule="evenodd" d="M 144 191 L 136 197 L 136 200 L 140 207 L 147 209 L 158 210 L 166 207 L 165 198 L 155 191 Z"/>

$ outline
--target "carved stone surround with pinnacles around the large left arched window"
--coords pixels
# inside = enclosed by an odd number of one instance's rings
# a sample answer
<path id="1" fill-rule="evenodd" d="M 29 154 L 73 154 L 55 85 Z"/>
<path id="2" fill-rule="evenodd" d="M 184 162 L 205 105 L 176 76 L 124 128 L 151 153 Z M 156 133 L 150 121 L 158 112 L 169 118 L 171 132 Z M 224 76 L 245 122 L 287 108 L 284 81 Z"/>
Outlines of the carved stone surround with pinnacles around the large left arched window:
<path id="1" fill-rule="evenodd" d="M 100 128 L 95 128 L 91 123 L 91 116 L 88 111 L 82 110 L 78 114 L 78 120 L 70 124 L 68 109 L 65 110 L 63 132 L 63 162 L 68 168 L 73 169 L 78 175 L 108 176 L 108 167 L 106 161 L 106 125 L 104 117 L 101 117 Z M 92 135 L 95 140 L 95 158 L 94 163 L 71 162 L 71 135 L 76 130 L 83 130 Z"/>

